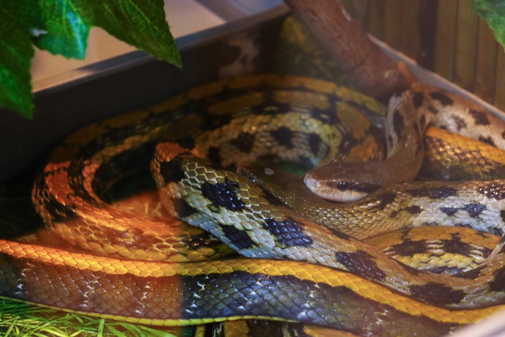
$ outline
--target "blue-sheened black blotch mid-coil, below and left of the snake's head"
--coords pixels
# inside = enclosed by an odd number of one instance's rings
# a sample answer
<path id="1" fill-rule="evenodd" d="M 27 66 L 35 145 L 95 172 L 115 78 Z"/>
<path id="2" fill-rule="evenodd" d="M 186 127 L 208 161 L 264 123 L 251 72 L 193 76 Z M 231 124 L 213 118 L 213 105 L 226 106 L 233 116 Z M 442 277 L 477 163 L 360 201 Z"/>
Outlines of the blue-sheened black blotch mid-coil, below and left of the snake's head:
<path id="1" fill-rule="evenodd" d="M 285 247 L 311 247 L 313 244 L 312 238 L 303 231 L 304 225 L 290 217 L 284 217 L 282 221 L 266 219 L 263 228 Z"/>

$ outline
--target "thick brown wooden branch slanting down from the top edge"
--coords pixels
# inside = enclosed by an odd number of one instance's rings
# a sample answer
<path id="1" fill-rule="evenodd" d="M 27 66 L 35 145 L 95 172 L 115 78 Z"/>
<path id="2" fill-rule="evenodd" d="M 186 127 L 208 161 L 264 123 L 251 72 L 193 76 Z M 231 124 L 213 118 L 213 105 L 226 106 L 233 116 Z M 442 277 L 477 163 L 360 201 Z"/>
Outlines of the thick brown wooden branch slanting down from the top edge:
<path id="1" fill-rule="evenodd" d="M 285 2 L 360 91 L 385 101 L 414 81 L 407 68 L 393 62 L 373 43 L 361 23 L 337 0 Z"/>

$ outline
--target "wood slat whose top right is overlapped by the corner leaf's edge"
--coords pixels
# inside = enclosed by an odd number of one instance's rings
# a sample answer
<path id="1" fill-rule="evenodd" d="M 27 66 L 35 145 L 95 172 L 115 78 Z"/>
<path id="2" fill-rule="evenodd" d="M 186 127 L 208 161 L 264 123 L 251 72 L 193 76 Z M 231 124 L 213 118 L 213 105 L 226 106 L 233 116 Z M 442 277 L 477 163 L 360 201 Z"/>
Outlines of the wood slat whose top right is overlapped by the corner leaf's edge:
<path id="1" fill-rule="evenodd" d="M 471 0 L 458 1 L 454 82 L 473 91 L 479 17 L 470 9 L 470 3 Z"/>

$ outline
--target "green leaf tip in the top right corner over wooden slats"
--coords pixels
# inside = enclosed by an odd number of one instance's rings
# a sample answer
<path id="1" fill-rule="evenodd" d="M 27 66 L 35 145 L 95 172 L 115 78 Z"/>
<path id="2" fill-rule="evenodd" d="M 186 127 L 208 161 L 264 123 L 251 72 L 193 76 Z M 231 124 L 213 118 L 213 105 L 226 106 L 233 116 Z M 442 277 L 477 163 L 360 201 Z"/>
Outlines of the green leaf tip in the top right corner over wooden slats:
<path id="1" fill-rule="evenodd" d="M 505 1 L 472 0 L 472 10 L 487 21 L 496 40 L 505 46 Z"/>

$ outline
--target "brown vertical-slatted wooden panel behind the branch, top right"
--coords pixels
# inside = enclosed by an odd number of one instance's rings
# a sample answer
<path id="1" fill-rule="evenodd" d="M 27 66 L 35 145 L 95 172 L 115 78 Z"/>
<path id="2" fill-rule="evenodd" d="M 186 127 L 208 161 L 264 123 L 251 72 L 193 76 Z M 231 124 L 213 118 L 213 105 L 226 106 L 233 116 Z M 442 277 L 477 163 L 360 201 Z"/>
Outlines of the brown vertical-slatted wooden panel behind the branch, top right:
<path id="1" fill-rule="evenodd" d="M 505 53 L 470 0 L 342 2 L 375 37 L 505 110 Z"/>

